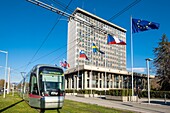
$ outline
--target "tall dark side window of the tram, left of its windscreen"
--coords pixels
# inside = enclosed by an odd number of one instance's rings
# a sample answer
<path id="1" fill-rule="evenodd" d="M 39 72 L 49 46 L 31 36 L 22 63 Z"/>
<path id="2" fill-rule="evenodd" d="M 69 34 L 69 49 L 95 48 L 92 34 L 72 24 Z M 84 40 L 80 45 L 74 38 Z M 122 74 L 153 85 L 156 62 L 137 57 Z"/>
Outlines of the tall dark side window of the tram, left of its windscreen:
<path id="1" fill-rule="evenodd" d="M 31 93 L 38 95 L 37 78 L 35 75 L 31 75 Z"/>

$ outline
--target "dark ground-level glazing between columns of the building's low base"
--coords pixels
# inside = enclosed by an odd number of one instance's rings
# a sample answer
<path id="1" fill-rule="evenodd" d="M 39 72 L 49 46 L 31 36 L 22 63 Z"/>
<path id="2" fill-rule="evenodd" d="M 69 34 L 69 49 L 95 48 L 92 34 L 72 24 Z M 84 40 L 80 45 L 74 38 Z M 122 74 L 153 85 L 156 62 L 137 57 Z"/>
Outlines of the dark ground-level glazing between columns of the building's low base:
<path id="1" fill-rule="evenodd" d="M 91 78 L 91 80 L 90 80 L 89 75 L 90 75 L 90 72 L 89 72 L 88 78 L 87 78 L 87 88 L 91 88 L 90 84 L 92 84 L 92 88 L 105 88 L 104 75 L 93 76 Z M 129 78 L 127 76 L 107 75 L 106 77 L 107 77 L 106 88 L 131 88 L 131 84 L 130 84 L 131 78 Z M 112 81 L 113 79 L 114 79 L 114 81 Z M 134 78 L 134 81 L 135 81 L 135 84 L 142 84 L 142 78 Z M 72 87 L 74 88 L 74 80 L 72 81 L 72 85 L 73 85 Z M 81 88 L 81 87 L 82 87 L 82 76 L 79 77 L 79 88 Z"/>

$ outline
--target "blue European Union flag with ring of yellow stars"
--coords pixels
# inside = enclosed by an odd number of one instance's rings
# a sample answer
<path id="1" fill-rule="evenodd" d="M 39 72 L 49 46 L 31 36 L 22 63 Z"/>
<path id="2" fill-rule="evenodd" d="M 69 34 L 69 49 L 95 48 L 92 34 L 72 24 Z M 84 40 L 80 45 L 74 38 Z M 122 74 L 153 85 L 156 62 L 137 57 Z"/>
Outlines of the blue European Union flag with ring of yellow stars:
<path id="1" fill-rule="evenodd" d="M 159 29 L 160 24 L 141 19 L 132 19 L 132 33 L 138 33 L 151 29 Z"/>

